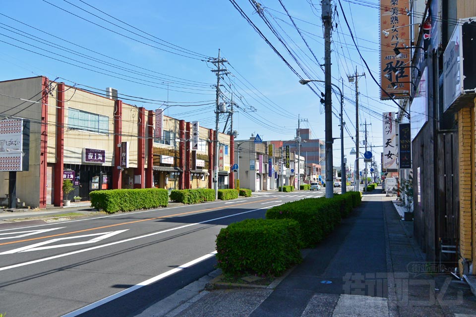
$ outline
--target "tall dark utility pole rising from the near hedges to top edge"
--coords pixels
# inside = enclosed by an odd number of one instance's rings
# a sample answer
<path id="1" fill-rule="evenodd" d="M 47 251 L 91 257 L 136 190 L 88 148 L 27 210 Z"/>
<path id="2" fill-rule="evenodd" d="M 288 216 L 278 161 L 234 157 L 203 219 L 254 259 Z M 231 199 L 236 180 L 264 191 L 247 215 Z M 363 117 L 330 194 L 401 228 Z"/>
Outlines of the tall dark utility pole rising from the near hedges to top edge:
<path id="1" fill-rule="evenodd" d="M 332 160 L 332 92 L 331 92 L 331 28 L 332 8 L 330 0 L 322 0 L 322 22 L 324 23 L 324 118 L 326 130 L 326 198 L 334 197 L 334 175 Z"/>

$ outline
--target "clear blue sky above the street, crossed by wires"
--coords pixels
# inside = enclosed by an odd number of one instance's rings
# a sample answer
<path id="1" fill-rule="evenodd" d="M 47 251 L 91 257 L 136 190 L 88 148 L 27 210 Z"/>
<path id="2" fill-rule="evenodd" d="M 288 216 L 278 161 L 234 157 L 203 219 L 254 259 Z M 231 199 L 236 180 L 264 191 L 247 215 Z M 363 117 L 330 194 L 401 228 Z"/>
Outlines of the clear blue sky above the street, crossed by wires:
<path id="1" fill-rule="evenodd" d="M 236 0 L 302 78 L 312 76 L 311 79 L 323 80 L 324 72 L 318 66 L 318 63 L 324 63 L 320 1 L 281 0 L 310 50 L 279 0 L 259 2 L 264 16 L 286 41 L 288 48 L 295 52 L 306 74 L 271 33 L 250 2 Z M 359 79 L 359 124 L 363 124 L 365 119 L 371 123 L 368 126 L 369 143 L 382 145 L 379 114 L 395 111 L 396 106 L 379 101 L 378 86 L 358 56 L 339 2 L 331 2 L 337 4 L 337 13 L 333 16 L 332 76 L 333 83 L 339 87 L 342 87 L 339 78 L 344 78 L 344 121 L 348 128 L 344 132 L 344 148 L 345 154 L 350 157 L 349 152 L 355 147 L 350 135 L 355 136 L 356 110 L 355 86 L 348 82 L 347 75 L 353 74 L 356 67 L 359 74 L 366 73 L 365 78 Z M 378 0 L 341 0 L 341 3 L 360 52 L 378 80 Z M 114 87 L 119 94 L 154 100 L 149 103 L 126 103 L 147 109 L 167 107 L 168 115 L 187 121 L 199 120 L 201 126 L 214 128 L 215 88 L 212 86 L 216 84 L 216 76 L 211 72 L 214 65 L 206 60 L 217 57 L 220 49 L 221 56 L 229 61 L 226 66 L 231 72 L 221 82 L 224 85 L 222 92 L 224 98 L 229 100 L 233 91 L 233 99 L 238 104 L 238 109 L 235 107 L 238 112 L 234 115 L 234 130 L 238 130 L 238 139 L 247 139 L 252 133 L 258 133 L 263 140 L 293 139 L 299 115 L 301 119 L 308 120 L 301 122 L 301 127 L 310 128 L 314 137 L 324 140 L 324 109 L 319 97 L 309 87 L 298 83 L 299 77 L 253 30 L 231 1 L 5 1 L 0 13 L 0 80 L 45 75 L 50 79 L 60 77 L 58 81 L 79 88 Z M 337 28 L 335 23 L 338 23 Z M 313 87 L 318 95 L 324 91 L 323 85 Z M 333 95 L 336 115 L 339 102 L 337 95 Z M 336 115 L 333 115 L 333 136 L 339 137 Z M 223 117 L 220 130 L 223 130 L 225 121 Z M 363 129 L 364 126 L 360 126 L 360 130 Z M 360 134 L 362 139 L 363 133 Z M 340 141 L 336 140 L 334 165 L 340 164 L 340 148 Z M 375 148 L 375 151 L 380 153 L 381 148 Z"/>

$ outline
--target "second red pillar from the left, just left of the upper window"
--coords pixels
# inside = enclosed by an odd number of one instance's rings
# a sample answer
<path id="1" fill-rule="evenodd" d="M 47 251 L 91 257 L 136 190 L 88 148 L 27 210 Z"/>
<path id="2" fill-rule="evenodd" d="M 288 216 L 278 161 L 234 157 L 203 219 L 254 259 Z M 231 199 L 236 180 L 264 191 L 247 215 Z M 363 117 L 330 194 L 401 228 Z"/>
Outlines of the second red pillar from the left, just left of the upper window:
<path id="1" fill-rule="evenodd" d="M 55 193 L 53 204 L 63 206 L 63 163 L 64 163 L 64 83 L 58 84 L 56 110 L 56 164 Z"/>

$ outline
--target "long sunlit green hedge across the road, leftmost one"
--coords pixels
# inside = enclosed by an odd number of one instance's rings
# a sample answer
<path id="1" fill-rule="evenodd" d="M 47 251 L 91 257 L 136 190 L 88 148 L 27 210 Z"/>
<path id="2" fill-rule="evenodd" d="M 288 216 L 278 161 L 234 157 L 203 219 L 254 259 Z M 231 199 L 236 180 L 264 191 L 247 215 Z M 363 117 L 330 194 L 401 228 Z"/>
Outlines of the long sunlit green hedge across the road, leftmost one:
<path id="1" fill-rule="evenodd" d="M 167 207 L 169 192 L 163 188 L 98 190 L 89 193 L 91 207 L 108 213 Z"/>

